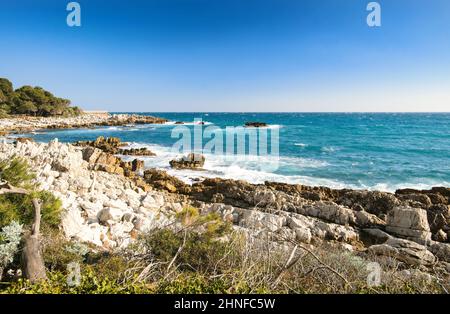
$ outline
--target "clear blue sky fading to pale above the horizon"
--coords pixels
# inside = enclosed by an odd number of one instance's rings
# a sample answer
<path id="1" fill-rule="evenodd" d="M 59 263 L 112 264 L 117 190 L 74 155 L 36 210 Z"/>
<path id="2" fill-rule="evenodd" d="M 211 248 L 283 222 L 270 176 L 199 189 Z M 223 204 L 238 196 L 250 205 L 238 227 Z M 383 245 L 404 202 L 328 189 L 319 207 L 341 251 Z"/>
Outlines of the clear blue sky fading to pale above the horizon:
<path id="1" fill-rule="evenodd" d="M 0 0 L 0 77 L 109 111 L 450 111 L 450 1 Z"/>

